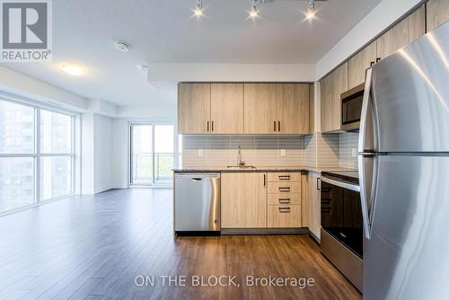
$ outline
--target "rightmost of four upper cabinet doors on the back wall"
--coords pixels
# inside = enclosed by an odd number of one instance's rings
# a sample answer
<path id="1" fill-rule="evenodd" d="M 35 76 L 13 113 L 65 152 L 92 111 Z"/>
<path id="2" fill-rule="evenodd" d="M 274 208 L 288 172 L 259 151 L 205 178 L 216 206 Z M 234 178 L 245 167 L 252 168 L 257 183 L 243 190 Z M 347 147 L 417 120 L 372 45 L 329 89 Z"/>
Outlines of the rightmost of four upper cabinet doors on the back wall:
<path id="1" fill-rule="evenodd" d="M 277 132 L 309 132 L 309 84 L 276 84 Z"/>

